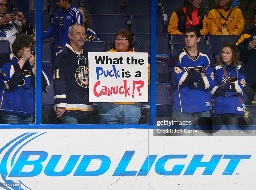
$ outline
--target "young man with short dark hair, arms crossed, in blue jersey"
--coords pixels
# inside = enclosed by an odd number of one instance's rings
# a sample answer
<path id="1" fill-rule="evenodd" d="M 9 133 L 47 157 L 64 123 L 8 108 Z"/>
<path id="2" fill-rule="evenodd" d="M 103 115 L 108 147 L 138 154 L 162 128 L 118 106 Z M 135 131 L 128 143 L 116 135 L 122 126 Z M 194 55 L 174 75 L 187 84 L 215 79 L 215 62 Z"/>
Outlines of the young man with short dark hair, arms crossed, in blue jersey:
<path id="1" fill-rule="evenodd" d="M 210 117 L 209 88 L 213 85 L 214 70 L 207 55 L 197 49 L 199 41 L 199 29 L 187 27 L 186 48 L 172 56 L 173 117 Z"/>

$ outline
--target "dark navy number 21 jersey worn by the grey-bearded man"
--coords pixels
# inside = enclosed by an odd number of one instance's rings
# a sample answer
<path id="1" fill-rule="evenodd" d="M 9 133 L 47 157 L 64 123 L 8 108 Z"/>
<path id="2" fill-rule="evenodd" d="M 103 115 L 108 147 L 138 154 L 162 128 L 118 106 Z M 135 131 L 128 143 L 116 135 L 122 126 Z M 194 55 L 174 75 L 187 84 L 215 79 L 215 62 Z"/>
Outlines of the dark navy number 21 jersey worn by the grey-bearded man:
<path id="1" fill-rule="evenodd" d="M 89 67 L 88 54 L 81 51 L 76 54 L 66 44 L 57 52 L 53 61 L 54 109 L 65 107 L 65 116 L 77 118 L 77 111 L 92 111 L 93 103 L 89 103 Z"/>

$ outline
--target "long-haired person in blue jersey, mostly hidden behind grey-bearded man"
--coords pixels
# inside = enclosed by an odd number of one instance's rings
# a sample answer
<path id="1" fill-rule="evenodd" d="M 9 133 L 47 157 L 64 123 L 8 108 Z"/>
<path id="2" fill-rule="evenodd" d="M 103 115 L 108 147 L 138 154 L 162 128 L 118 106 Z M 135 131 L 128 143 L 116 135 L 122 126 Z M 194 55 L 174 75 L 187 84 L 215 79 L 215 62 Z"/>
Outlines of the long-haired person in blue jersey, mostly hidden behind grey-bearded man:
<path id="1" fill-rule="evenodd" d="M 83 26 L 85 28 L 85 41 L 102 41 L 101 36 L 90 28 L 92 19 L 90 13 L 83 7 L 77 8 L 83 15 Z"/>

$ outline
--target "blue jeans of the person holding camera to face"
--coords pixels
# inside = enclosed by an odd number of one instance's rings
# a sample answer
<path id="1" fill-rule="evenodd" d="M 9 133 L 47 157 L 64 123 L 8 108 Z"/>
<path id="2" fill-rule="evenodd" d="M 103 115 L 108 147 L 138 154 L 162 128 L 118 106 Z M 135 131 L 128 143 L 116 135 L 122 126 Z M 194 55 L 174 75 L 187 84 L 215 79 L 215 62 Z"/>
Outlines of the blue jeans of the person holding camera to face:
<path id="1" fill-rule="evenodd" d="M 0 111 L 4 124 L 33 124 L 33 115 L 21 116 L 17 114 L 11 114 L 6 111 Z"/>

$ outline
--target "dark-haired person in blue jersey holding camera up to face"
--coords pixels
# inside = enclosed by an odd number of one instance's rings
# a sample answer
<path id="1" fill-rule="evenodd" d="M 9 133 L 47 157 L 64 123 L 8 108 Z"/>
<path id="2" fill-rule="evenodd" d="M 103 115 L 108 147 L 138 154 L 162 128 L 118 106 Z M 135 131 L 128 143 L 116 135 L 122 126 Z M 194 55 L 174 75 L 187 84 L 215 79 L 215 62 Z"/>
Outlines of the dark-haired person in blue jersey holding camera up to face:
<path id="1" fill-rule="evenodd" d="M 33 124 L 35 114 L 34 41 L 20 34 L 12 51 L 0 55 L 0 114 L 5 124 Z M 33 52 L 35 53 L 35 52 Z M 47 92 L 49 80 L 42 72 L 42 91 Z"/>

